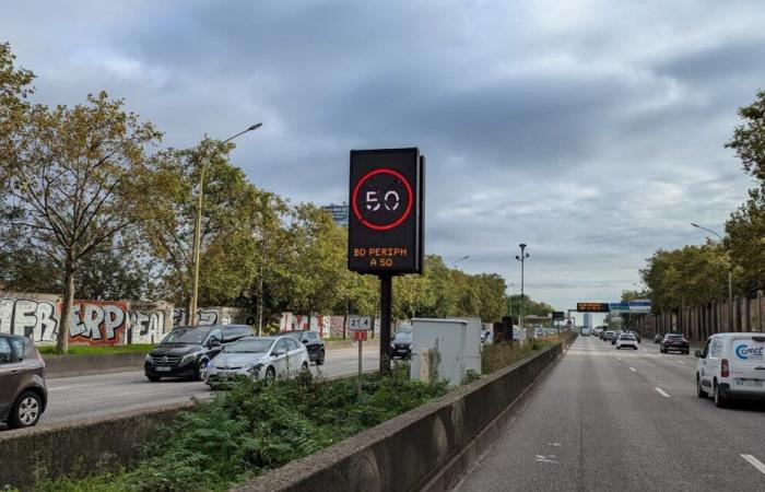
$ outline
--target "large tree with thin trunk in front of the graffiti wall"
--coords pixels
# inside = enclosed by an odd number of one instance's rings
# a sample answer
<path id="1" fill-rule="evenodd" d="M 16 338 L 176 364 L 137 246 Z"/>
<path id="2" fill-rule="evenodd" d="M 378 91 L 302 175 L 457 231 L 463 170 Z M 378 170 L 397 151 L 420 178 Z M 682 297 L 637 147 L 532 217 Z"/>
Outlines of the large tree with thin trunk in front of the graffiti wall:
<path id="1" fill-rule="evenodd" d="M 25 230 L 28 246 L 62 271 L 64 320 L 83 258 L 134 222 L 145 148 L 161 138 L 122 105 L 105 92 L 71 108 L 34 105 L 5 139 L 3 199 L 12 226 Z M 62 323 L 57 351 L 68 345 L 69 324 Z"/>

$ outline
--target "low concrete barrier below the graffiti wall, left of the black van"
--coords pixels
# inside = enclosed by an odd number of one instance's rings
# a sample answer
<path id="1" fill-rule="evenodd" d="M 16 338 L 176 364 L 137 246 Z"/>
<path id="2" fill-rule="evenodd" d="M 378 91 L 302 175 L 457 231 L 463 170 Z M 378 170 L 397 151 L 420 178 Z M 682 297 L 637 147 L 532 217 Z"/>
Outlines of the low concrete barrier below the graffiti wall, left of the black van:
<path id="1" fill-rule="evenodd" d="M 95 374 L 142 371 L 145 353 L 108 353 L 93 355 L 44 355 L 45 376 L 57 377 L 90 376 Z"/>

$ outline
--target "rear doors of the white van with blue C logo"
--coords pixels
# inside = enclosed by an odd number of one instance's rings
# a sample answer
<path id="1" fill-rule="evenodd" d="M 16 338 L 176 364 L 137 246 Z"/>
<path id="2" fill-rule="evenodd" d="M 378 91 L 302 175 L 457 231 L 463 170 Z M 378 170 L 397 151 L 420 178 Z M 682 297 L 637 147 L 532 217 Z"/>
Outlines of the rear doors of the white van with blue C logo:
<path id="1" fill-rule="evenodd" d="M 765 335 L 735 335 L 729 347 L 731 389 L 765 393 Z"/>

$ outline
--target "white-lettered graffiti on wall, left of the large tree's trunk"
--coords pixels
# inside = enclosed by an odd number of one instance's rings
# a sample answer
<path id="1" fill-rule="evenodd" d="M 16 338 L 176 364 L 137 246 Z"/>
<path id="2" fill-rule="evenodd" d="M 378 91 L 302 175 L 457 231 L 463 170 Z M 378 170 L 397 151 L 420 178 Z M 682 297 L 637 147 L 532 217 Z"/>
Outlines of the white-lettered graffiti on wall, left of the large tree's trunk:
<path id="1" fill-rule="evenodd" d="M 21 335 L 36 342 L 54 342 L 61 317 L 55 295 L 0 294 L 0 333 Z"/>

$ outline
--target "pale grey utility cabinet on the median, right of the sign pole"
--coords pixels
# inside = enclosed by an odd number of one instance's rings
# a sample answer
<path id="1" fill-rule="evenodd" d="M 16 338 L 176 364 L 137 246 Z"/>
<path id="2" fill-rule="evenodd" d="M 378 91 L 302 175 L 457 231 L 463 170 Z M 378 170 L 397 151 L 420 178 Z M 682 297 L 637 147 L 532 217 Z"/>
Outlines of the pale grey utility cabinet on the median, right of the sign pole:
<path id="1" fill-rule="evenodd" d="M 470 370 L 481 374 L 481 327 L 479 318 L 412 319 L 411 378 L 424 378 L 428 362 L 423 359 L 435 351 L 438 378 L 449 385 L 460 385 Z"/>

